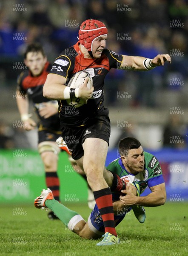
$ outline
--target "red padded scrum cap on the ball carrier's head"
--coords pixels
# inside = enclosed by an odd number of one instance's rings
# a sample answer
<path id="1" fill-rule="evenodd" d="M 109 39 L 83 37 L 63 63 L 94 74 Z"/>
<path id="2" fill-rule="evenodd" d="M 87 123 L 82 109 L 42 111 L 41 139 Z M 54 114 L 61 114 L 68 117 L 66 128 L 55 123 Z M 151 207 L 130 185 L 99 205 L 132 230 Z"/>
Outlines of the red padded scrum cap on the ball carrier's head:
<path id="1" fill-rule="evenodd" d="M 108 29 L 99 20 L 85 20 L 79 30 L 79 42 L 88 52 L 92 52 L 92 42 L 101 35 L 107 35 Z"/>

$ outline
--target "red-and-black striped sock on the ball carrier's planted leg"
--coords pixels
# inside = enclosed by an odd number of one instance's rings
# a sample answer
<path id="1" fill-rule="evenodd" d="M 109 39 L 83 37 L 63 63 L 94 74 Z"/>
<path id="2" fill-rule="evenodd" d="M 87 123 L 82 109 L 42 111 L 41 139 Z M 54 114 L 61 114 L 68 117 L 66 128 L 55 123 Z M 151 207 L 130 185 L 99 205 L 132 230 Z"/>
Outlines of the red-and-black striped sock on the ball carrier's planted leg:
<path id="1" fill-rule="evenodd" d="M 94 198 L 104 222 L 105 233 L 109 232 L 112 235 L 117 236 L 110 188 L 94 191 Z"/>

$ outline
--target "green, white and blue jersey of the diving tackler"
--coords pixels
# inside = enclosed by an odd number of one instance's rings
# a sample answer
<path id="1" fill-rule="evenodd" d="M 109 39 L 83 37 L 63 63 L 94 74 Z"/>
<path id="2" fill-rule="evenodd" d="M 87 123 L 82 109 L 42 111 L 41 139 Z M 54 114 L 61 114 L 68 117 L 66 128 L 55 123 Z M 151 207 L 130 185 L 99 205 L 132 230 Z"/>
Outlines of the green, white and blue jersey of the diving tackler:
<path id="1" fill-rule="evenodd" d="M 139 183 L 142 193 L 147 186 L 152 187 L 165 182 L 160 163 L 154 155 L 144 152 L 144 162 L 144 171 L 137 175 L 133 175 L 125 169 L 121 158 L 117 158 L 111 162 L 106 169 L 115 172 L 125 182 Z"/>

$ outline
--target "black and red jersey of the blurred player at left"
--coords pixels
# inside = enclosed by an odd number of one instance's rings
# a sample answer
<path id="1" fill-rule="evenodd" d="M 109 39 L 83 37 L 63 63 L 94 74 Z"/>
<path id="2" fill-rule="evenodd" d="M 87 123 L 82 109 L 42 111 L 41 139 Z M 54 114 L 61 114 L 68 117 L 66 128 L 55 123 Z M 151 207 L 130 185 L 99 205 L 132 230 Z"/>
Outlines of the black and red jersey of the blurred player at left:
<path id="1" fill-rule="evenodd" d="M 22 95 L 28 94 L 29 99 L 34 103 L 37 116 L 40 119 L 39 129 L 42 131 L 48 128 L 50 131 L 60 131 L 60 118 L 58 113 L 46 119 L 39 115 L 39 109 L 43 107 L 43 102 L 51 102 L 52 104 L 57 102 L 51 101 L 43 96 L 43 86 L 50 69 L 51 64 L 46 62 L 40 76 L 32 76 L 29 70 L 22 72 L 17 79 L 17 88 Z"/>

